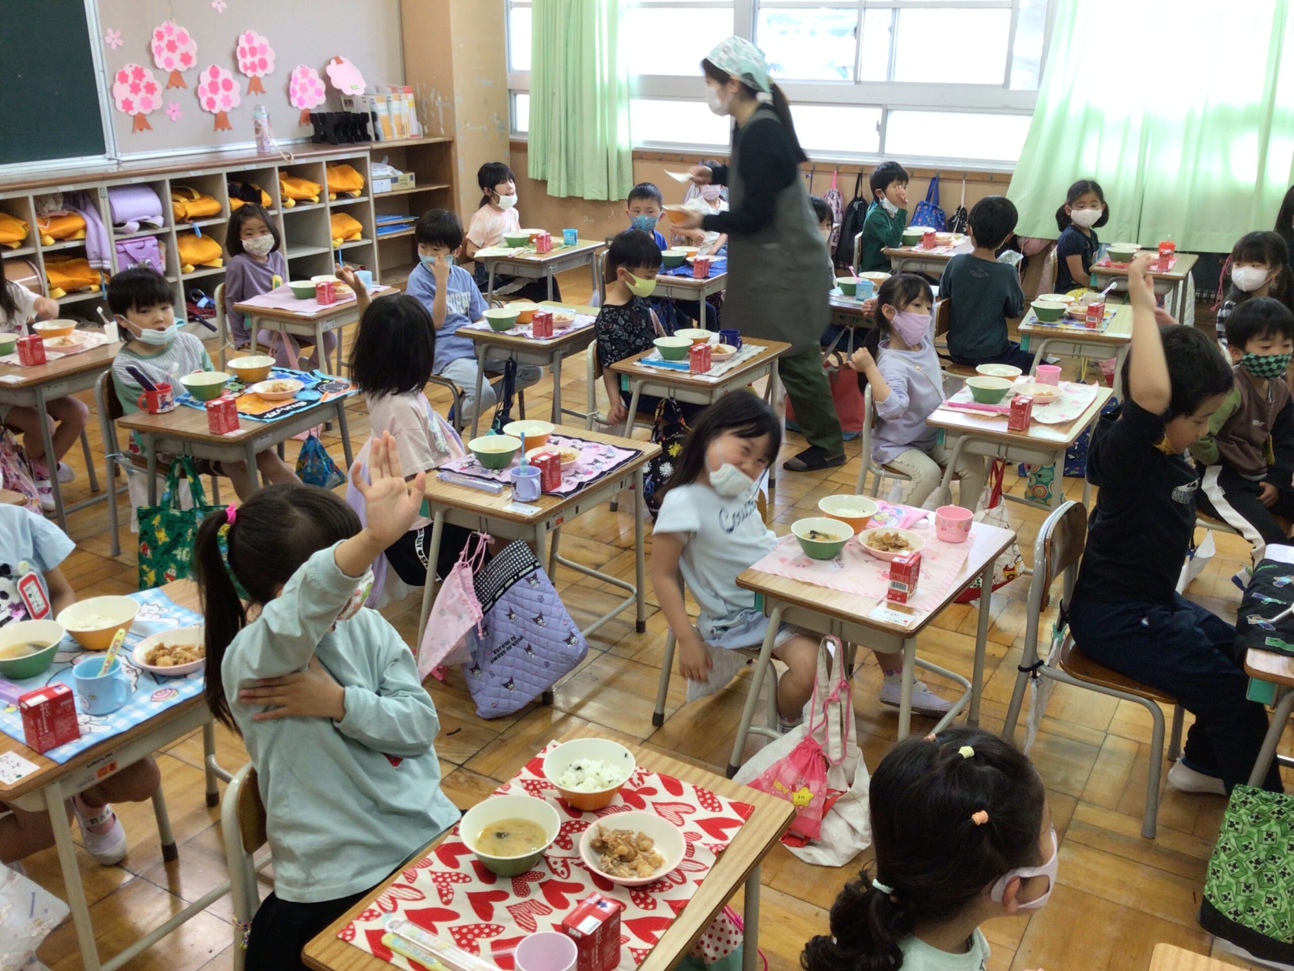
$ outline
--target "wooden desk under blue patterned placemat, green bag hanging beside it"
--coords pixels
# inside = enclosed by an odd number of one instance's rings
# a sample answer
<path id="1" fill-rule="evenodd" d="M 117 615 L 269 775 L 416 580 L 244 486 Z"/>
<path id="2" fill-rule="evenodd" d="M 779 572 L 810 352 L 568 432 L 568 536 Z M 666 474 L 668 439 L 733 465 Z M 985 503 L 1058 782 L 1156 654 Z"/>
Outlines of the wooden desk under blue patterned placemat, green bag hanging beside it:
<path id="1" fill-rule="evenodd" d="M 164 414 L 136 412 L 118 418 L 116 423 L 133 431 L 140 440 L 140 448 L 149 462 L 149 505 L 158 501 L 158 452 L 207 458 L 214 462 L 246 462 L 252 489 L 260 488 L 256 471 L 256 453 L 303 431 L 336 419 L 342 434 L 342 449 L 345 452 L 345 466 L 351 467 L 355 457 L 351 454 L 351 434 L 345 425 L 345 403 L 349 395 L 338 395 L 327 401 L 316 401 L 309 408 L 292 412 L 283 418 L 269 422 L 256 422 L 238 416 L 238 431 L 229 435 L 215 435 L 207 425 L 203 409 L 179 405 Z"/>

